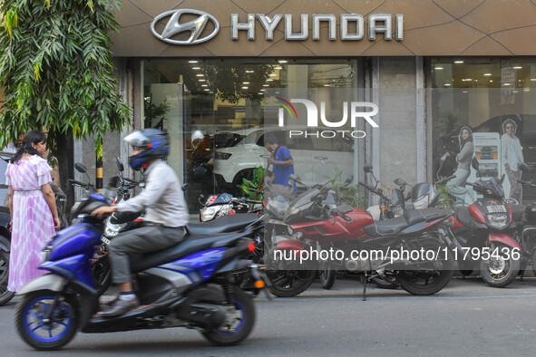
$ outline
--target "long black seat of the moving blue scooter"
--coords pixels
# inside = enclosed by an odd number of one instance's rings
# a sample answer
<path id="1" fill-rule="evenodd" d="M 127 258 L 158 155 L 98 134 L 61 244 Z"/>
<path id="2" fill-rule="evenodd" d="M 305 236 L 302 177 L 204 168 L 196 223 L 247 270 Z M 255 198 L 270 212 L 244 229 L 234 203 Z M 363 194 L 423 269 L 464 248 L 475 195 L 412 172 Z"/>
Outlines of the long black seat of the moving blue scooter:
<path id="1" fill-rule="evenodd" d="M 243 235 L 238 232 L 219 236 L 188 236 L 186 240 L 180 242 L 177 246 L 171 246 L 171 248 L 149 254 L 131 255 L 131 271 L 132 273 L 138 273 L 153 266 L 171 263 L 181 257 L 189 256 L 204 249 L 229 246 L 233 241 L 240 238 L 243 238 Z"/>

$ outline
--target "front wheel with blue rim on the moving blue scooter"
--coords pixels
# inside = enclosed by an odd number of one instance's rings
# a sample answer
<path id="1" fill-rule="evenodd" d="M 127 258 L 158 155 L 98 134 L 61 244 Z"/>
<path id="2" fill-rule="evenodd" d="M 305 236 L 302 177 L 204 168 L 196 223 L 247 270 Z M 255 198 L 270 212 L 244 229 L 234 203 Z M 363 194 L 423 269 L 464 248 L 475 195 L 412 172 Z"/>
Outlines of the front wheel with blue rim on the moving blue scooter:
<path id="1" fill-rule="evenodd" d="M 69 343 L 78 329 L 74 298 L 64 296 L 54 304 L 55 294 L 48 290 L 25 294 L 15 306 L 16 331 L 36 350 L 57 350 Z"/>

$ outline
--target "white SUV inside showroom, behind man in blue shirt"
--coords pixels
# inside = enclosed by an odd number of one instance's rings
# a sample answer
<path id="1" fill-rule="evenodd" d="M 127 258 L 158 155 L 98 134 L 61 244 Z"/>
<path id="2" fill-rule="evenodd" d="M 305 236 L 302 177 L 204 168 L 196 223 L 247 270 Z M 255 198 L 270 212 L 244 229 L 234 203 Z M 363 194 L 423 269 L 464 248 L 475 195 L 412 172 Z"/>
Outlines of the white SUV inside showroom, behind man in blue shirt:
<path id="1" fill-rule="evenodd" d="M 322 128 L 318 128 L 322 130 Z M 300 135 L 288 138 L 287 130 L 252 128 L 236 131 L 243 135 L 233 146 L 216 149 L 214 175 L 220 190 L 236 192 L 242 178 L 251 178 L 253 169 L 266 169 L 270 156 L 264 147 L 264 134 L 274 134 L 279 145 L 287 146 L 294 159 L 294 172 L 308 186 L 322 179 L 335 178 L 336 168 L 343 180 L 354 172 L 354 140 L 351 138 L 320 138 Z"/>

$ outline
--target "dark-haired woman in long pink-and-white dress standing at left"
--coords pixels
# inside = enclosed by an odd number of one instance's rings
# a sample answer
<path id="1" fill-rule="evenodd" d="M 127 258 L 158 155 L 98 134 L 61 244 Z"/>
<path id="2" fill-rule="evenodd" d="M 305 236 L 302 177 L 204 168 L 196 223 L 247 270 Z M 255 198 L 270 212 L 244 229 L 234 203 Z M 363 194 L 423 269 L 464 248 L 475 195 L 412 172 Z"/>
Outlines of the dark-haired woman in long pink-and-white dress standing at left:
<path id="1" fill-rule="evenodd" d="M 43 159 L 46 136 L 29 131 L 23 146 L 5 169 L 11 211 L 11 254 L 7 289 L 20 288 L 44 271 L 37 269 L 40 253 L 59 229 L 60 220 L 50 186 L 52 168 Z"/>

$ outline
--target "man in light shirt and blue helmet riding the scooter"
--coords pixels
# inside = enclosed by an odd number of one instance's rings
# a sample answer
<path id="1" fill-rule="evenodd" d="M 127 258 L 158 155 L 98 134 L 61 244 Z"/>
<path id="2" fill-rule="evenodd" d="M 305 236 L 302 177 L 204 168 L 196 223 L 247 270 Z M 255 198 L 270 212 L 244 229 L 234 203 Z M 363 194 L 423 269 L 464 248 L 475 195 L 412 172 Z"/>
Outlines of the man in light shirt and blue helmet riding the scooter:
<path id="1" fill-rule="evenodd" d="M 119 298 L 99 315 L 117 316 L 139 305 L 132 291 L 129 255 L 150 253 L 175 246 L 184 240 L 188 208 L 180 181 L 169 165 L 170 141 L 161 130 L 133 131 L 124 140 L 132 145 L 132 169 L 145 169 L 145 189 L 136 196 L 111 207 L 99 207 L 92 215 L 102 217 L 112 212 L 145 211 L 144 226 L 116 236 L 108 246 L 112 282 L 119 285 Z"/>

